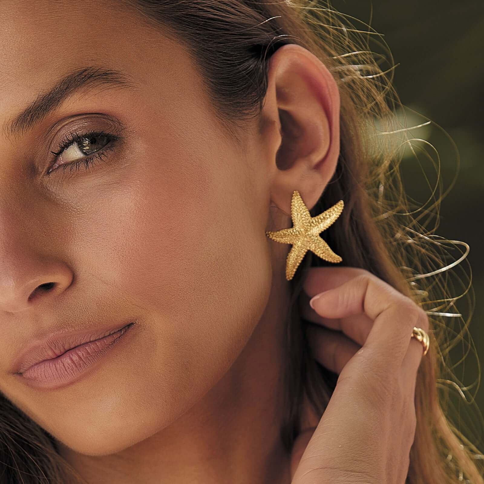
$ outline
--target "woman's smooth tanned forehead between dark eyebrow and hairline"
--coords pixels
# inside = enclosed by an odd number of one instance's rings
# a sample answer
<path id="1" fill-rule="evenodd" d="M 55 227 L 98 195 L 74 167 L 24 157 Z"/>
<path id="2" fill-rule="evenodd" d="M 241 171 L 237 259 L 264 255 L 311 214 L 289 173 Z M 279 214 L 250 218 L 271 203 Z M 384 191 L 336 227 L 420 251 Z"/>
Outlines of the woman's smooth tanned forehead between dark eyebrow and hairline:
<path id="1" fill-rule="evenodd" d="M 121 1 L 1 0 L 1 4 L 1 121 L 61 76 L 85 66 L 123 70 L 140 85 L 149 85 L 163 72 L 166 78 L 177 77 L 188 68 L 181 45 L 123 8 Z"/>

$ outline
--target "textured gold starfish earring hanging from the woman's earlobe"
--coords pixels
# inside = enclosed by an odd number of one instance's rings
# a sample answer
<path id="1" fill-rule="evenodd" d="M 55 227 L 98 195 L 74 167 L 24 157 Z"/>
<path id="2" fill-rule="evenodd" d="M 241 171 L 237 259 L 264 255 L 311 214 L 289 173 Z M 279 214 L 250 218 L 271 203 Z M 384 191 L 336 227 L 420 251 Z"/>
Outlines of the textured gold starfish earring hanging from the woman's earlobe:
<path id="1" fill-rule="evenodd" d="M 300 193 L 294 190 L 291 199 L 291 218 L 293 226 L 282 230 L 267 231 L 266 235 L 281 243 L 292 244 L 286 260 L 286 279 L 290 281 L 308 250 L 328 262 L 341 262 L 330 246 L 319 237 L 343 212 L 343 200 L 316 217 L 311 217 Z"/>

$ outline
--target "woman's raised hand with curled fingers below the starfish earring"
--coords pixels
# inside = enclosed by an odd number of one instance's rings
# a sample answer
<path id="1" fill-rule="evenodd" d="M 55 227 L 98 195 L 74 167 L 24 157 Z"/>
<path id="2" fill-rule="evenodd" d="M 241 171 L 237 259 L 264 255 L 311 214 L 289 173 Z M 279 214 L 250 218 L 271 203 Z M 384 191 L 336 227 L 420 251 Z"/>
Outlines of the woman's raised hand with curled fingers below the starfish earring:
<path id="1" fill-rule="evenodd" d="M 423 356 L 410 335 L 428 333 L 426 313 L 363 269 L 312 268 L 303 288 L 313 354 L 339 377 L 317 427 L 294 443 L 291 484 L 404 484 Z M 312 309 L 307 296 L 322 291 Z"/>

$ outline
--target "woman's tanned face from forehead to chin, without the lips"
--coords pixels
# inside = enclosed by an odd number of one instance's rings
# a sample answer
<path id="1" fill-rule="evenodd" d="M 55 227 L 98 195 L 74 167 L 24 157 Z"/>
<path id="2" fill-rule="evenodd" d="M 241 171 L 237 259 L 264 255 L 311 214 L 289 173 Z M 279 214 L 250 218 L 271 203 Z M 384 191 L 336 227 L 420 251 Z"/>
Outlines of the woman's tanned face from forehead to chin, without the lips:
<path id="1" fill-rule="evenodd" d="M 227 136 L 181 46 L 133 16 L 17 0 L 0 24 L 0 390 L 75 451 L 112 453 L 200 400 L 257 326 L 272 287 L 267 166 L 255 132 L 244 151 Z M 85 68 L 111 73 L 10 133 Z M 104 154 L 47 174 L 70 132 L 105 133 L 84 146 Z M 81 147 L 58 162 L 86 158 Z M 73 384 L 45 391 L 12 373 L 45 333 L 130 319 L 129 342 Z"/>

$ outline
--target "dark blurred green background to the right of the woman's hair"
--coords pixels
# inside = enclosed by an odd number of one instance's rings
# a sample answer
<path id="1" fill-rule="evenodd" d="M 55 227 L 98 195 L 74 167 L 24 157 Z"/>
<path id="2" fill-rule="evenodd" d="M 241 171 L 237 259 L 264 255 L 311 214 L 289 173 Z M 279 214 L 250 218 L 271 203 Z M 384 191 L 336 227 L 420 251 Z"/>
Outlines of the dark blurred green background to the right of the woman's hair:
<path id="1" fill-rule="evenodd" d="M 458 363 L 467 352 L 464 362 L 453 371 L 461 383 L 471 387 L 466 393 L 467 400 L 475 395 L 477 407 L 484 413 L 484 385 L 479 381 L 482 371 L 479 364 L 484 362 L 484 121 L 481 104 L 484 102 L 484 2 L 334 0 L 332 5 L 337 11 L 370 24 L 383 35 L 394 64 L 399 64 L 394 69 L 393 85 L 402 104 L 440 125 L 457 146 L 458 177 L 441 202 L 440 224 L 435 233 L 470 246 L 467 260 L 476 303 L 469 331 L 475 347 L 460 345 L 452 352 L 452 360 Z M 363 30 L 361 23 L 352 22 Z M 373 47 L 370 44 L 371 50 L 375 50 Z M 408 125 L 424 121 L 422 118 L 408 119 Z M 439 151 L 445 190 L 454 178 L 457 165 L 452 143 L 435 127 L 412 132 L 412 136 L 423 137 Z M 404 179 L 411 181 L 410 184 L 406 182 L 406 188 L 411 190 L 415 200 L 423 203 L 430 195 L 429 186 L 417 168 L 415 160 L 404 160 L 401 164 Z M 455 257 L 460 257 L 460 253 L 454 252 Z M 466 266 L 462 264 L 463 268 Z M 461 309 L 458 301 L 456 305 L 464 315 L 466 309 Z M 469 313 L 465 316 L 469 318 Z M 461 325 L 462 322 L 454 323 L 454 329 L 458 330 Z M 452 393 L 456 413 L 462 419 L 460 430 L 483 451 L 483 423 L 476 414 L 476 404 L 466 405 L 458 391 Z"/>

